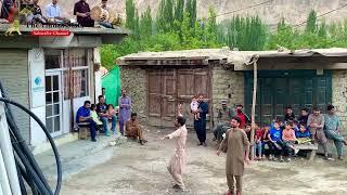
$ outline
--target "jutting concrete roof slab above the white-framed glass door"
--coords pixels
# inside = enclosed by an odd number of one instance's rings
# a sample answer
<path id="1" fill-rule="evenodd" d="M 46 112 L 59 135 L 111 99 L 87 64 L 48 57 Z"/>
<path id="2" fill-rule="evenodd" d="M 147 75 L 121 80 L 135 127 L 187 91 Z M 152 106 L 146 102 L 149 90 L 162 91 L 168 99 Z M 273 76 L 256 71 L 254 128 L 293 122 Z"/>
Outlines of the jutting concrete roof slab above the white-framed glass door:
<path id="1" fill-rule="evenodd" d="M 4 36 L 11 27 L 8 24 L 0 24 L 0 48 L 95 48 L 101 44 L 119 43 L 127 35 L 126 29 L 106 28 L 31 28 L 21 26 L 21 36 Z M 33 30 L 68 30 L 69 36 L 62 37 L 35 37 Z"/>

